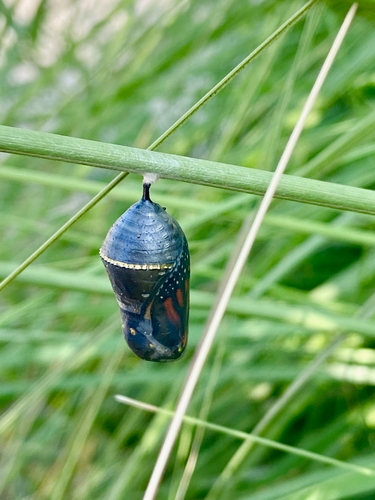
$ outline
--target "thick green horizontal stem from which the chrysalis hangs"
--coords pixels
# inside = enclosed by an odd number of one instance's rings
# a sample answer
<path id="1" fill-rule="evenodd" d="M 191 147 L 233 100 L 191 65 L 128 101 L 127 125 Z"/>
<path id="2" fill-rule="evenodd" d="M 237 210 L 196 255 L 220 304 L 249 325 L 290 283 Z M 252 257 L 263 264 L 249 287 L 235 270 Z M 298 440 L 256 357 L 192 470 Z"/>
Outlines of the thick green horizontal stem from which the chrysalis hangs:
<path id="1" fill-rule="evenodd" d="M 253 168 L 4 126 L 0 126 L 0 151 L 141 175 L 154 172 L 167 179 L 256 195 L 265 193 L 272 177 Z M 276 198 L 375 215 L 373 191 L 293 175 L 283 176 Z"/>

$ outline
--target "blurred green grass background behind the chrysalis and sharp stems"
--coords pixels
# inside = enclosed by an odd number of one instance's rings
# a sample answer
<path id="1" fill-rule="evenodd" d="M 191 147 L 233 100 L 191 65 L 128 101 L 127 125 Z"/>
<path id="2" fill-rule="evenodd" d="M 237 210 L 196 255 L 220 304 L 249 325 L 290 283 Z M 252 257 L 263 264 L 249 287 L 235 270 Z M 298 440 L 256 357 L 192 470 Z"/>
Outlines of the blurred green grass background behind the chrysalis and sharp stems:
<path id="1" fill-rule="evenodd" d="M 1 124 L 146 148 L 302 5 L 0 2 Z M 159 150 L 273 170 L 349 6 L 318 2 Z M 374 188 L 374 28 L 374 3 L 359 2 L 288 173 Z M 0 277 L 114 176 L 2 154 Z M 1 499 L 142 498 L 168 419 L 113 396 L 173 409 L 259 199 L 176 181 L 153 186 L 189 240 L 192 307 L 186 355 L 152 364 L 123 341 L 98 256 L 108 228 L 140 196 L 141 178 L 131 175 L 1 293 Z M 373 466 L 375 322 L 371 303 L 366 317 L 362 307 L 375 290 L 374 227 L 367 215 L 272 204 L 189 414 L 205 403 L 207 420 L 251 432 L 342 332 L 262 435 Z M 185 488 L 195 432 L 183 427 L 158 498 L 375 497 L 375 477 L 259 445 L 229 473 L 241 442 L 212 431 Z"/>

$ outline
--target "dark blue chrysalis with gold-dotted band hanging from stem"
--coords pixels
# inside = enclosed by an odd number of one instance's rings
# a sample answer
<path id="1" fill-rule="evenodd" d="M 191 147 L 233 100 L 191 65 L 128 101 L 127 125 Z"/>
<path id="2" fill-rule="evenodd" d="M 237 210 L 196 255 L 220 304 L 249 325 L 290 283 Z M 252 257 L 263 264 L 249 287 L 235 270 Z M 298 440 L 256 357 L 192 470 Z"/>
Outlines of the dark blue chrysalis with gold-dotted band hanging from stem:
<path id="1" fill-rule="evenodd" d="M 100 256 L 115 292 L 130 349 L 173 361 L 186 346 L 190 255 L 173 217 L 150 199 L 150 184 L 109 230 Z"/>

